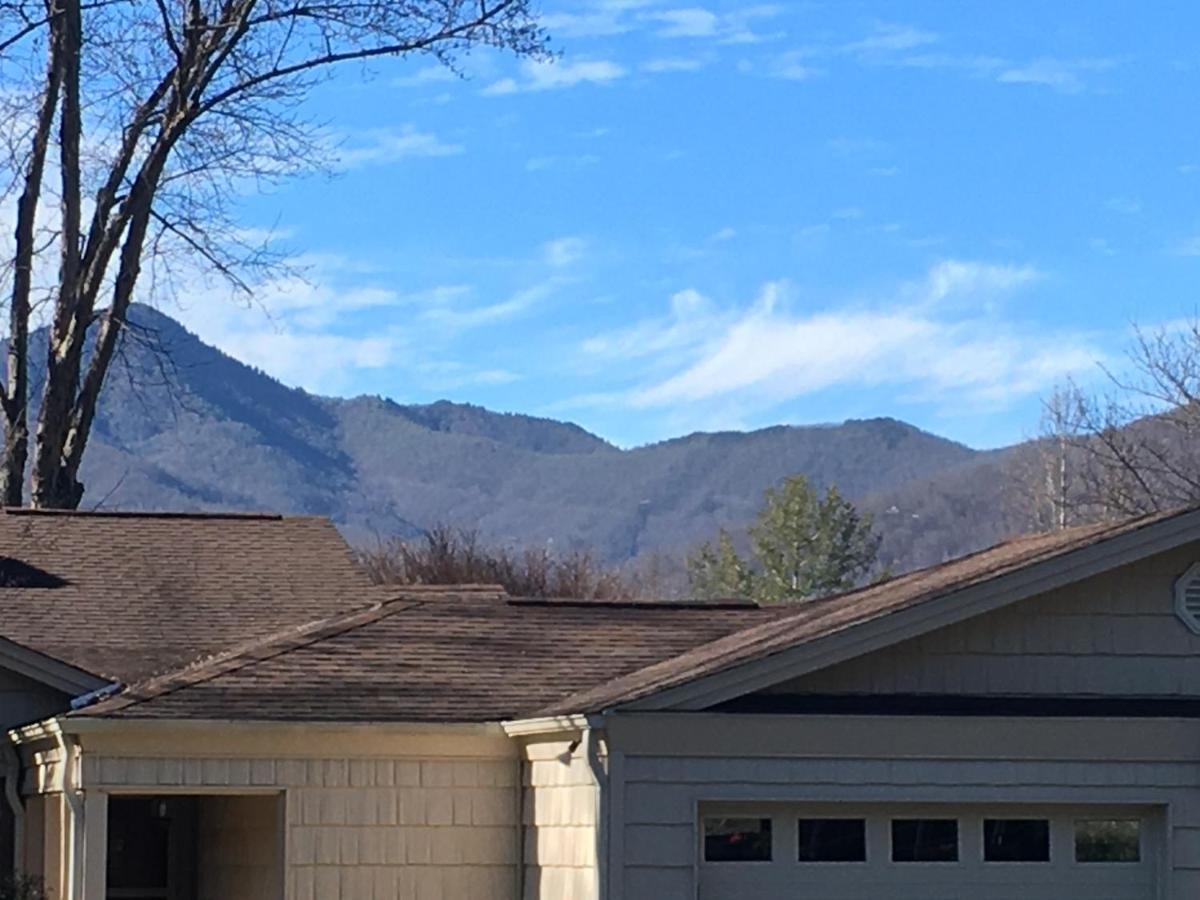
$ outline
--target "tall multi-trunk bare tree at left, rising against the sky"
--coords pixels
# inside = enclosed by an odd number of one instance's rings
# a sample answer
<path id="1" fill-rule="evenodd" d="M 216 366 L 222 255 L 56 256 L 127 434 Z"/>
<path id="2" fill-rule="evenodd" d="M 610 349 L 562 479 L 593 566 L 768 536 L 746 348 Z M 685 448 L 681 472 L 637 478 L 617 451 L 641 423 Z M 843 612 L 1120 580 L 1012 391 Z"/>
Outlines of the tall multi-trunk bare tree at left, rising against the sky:
<path id="1" fill-rule="evenodd" d="M 2 502 L 23 499 L 38 305 L 49 346 L 31 502 L 74 508 L 139 283 L 169 289 L 186 259 L 248 292 L 278 260 L 239 236 L 230 197 L 328 158 L 304 101 L 331 68 L 414 54 L 452 66 L 480 46 L 545 53 L 530 0 L 0 0 L 0 172 L 16 197 L 0 270 Z"/>

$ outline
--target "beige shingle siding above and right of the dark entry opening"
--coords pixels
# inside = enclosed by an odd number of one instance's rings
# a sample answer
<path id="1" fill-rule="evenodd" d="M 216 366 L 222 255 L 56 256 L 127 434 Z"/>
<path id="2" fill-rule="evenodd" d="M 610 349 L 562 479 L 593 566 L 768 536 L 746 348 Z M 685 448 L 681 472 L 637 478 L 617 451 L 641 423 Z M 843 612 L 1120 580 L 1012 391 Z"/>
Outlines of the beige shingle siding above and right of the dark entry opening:
<path id="1" fill-rule="evenodd" d="M 516 893 L 518 762 L 84 755 L 84 784 L 286 792 L 289 900 Z"/>

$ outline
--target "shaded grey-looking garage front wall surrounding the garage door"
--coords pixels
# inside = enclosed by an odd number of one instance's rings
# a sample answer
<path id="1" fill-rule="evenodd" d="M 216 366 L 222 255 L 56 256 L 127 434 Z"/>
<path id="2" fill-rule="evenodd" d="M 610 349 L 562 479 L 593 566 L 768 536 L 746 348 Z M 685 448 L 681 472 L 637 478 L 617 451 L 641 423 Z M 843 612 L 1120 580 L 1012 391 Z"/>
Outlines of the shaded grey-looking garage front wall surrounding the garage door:
<path id="1" fill-rule="evenodd" d="M 613 900 L 696 896 L 701 804 L 1153 808 L 1165 900 L 1200 892 L 1200 722 L 640 714 L 614 716 Z"/>

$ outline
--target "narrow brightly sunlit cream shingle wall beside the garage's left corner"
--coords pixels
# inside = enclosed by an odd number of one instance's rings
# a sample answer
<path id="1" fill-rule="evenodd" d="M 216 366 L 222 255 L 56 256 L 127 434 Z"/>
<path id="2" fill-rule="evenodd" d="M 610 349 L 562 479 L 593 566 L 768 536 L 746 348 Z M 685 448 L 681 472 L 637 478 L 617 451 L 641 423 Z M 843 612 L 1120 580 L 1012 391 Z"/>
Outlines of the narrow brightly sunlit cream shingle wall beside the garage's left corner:
<path id="1" fill-rule="evenodd" d="M 524 763 L 524 900 L 594 900 L 599 788 L 586 744 L 529 744 Z"/>

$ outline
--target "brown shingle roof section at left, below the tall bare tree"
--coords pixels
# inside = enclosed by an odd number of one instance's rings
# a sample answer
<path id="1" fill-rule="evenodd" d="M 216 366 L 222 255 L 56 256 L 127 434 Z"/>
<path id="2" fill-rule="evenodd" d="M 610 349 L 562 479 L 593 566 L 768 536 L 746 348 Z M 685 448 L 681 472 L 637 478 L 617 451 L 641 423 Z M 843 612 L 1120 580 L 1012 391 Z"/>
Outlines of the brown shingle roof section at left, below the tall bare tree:
<path id="1" fill-rule="evenodd" d="M 0 636 L 133 682 L 374 596 L 318 517 L 0 515 Z"/>

